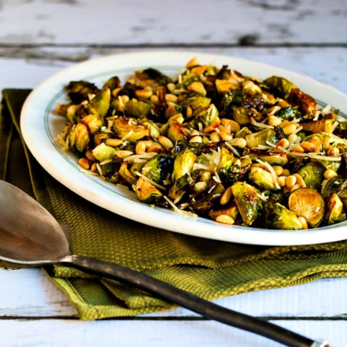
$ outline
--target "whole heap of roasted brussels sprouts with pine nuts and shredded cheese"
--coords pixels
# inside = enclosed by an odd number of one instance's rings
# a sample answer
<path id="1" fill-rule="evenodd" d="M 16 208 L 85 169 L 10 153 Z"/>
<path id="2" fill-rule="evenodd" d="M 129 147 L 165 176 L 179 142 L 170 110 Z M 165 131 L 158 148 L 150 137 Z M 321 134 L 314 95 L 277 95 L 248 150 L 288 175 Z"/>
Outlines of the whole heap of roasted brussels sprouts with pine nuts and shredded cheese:
<path id="1" fill-rule="evenodd" d="M 271 229 L 346 219 L 347 121 L 283 77 L 193 58 L 175 78 L 148 68 L 66 92 L 57 141 L 143 203 Z"/>

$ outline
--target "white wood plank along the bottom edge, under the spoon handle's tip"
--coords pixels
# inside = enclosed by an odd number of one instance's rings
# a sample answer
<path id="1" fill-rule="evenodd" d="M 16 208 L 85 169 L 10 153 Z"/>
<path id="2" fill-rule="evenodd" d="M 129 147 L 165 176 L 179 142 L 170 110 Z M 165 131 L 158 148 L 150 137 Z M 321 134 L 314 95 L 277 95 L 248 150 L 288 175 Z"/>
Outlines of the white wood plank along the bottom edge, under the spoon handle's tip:
<path id="1" fill-rule="evenodd" d="M 347 321 L 275 321 L 310 338 L 345 346 Z M 130 325 L 131 324 L 131 325 Z M 2 347 L 176 347 L 283 345 L 213 321 L 0 321 Z"/>

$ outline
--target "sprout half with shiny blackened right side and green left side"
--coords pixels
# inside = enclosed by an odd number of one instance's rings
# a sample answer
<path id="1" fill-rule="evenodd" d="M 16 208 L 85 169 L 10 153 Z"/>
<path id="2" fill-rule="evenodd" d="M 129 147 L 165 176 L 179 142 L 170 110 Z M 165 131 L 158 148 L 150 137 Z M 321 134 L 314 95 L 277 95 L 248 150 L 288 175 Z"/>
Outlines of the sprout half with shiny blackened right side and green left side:
<path id="1" fill-rule="evenodd" d="M 166 154 L 154 155 L 142 168 L 142 174 L 156 183 L 161 183 L 168 173 L 171 174 L 174 159 Z"/>

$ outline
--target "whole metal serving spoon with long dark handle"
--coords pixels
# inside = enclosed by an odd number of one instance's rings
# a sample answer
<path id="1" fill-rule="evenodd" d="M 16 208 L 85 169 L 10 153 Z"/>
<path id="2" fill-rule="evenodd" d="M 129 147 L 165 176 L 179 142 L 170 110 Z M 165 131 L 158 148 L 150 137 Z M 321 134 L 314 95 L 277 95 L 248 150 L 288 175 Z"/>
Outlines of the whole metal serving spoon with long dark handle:
<path id="1" fill-rule="evenodd" d="M 206 318 L 251 331 L 291 347 L 328 347 L 287 329 L 236 311 L 123 266 L 72 255 L 56 219 L 36 200 L 0 180 L 0 259 L 17 264 L 60 264 L 136 286 Z"/>

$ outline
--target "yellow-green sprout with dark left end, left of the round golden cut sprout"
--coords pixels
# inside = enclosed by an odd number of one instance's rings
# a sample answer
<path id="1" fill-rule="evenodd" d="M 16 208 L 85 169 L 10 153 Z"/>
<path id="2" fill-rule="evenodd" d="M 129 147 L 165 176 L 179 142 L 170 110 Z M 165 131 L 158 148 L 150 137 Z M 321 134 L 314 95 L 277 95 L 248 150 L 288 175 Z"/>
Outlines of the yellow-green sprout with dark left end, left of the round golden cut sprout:
<path id="1" fill-rule="evenodd" d="M 269 228 L 297 230 L 302 225 L 297 215 L 285 206 L 276 202 L 267 202 L 264 205 L 264 223 Z"/>

